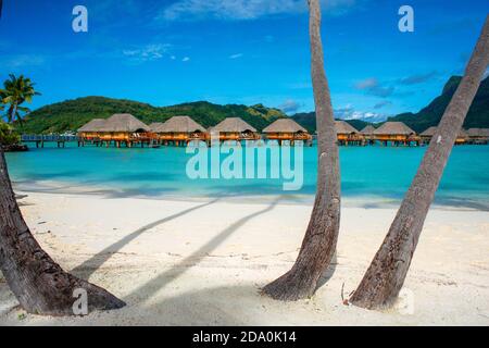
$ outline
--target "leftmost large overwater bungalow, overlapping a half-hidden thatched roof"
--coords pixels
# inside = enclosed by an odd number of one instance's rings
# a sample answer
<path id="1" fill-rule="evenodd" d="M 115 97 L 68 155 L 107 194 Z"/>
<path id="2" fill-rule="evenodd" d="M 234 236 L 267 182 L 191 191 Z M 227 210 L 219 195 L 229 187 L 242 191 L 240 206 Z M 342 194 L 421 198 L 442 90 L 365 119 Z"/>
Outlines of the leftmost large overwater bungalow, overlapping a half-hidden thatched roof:
<path id="1" fill-rule="evenodd" d="M 116 147 L 124 144 L 133 147 L 135 144 L 150 144 L 152 140 L 151 128 L 128 113 L 114 114 L 110 116 L 97 132 L 101 144 Z"/>

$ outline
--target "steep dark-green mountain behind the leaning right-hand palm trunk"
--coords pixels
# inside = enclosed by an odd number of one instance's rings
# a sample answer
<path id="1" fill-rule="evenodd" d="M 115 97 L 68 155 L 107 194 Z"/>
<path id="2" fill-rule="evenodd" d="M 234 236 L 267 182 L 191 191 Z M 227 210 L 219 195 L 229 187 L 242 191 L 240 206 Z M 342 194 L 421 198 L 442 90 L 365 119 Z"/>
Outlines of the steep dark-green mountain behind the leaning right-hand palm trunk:
<path id="1" fill-rule="evenodd" d="M 461 76 L 450 77 L 443 87 L 441 96 L 435 98 L 426 108 L 417 113 L 408 112 L 389 117 L 388 121 L 404 122 L 417 133 L 424 132 L 431 126 L 437 126 L 461 80 Z M 464 128 L 472 127 L 489 128 L 489 77 L 480 84 L 465 119 Z"/>

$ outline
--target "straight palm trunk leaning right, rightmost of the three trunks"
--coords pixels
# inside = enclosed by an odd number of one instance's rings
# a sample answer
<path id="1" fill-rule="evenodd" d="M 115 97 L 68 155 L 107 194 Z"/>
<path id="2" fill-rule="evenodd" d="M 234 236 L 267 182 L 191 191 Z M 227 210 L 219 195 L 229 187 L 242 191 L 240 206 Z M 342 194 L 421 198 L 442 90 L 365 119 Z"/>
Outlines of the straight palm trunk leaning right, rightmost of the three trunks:
<path id="1" fill-rule="evenodd" d="M 489 63 L 489 16 L 455 95 L 429 144 L 418 172 L 390 226 L 383 246 L 350 298 L 375 309 L 392 304 L 404 283 L 429 206 L 450 152 Z"/>

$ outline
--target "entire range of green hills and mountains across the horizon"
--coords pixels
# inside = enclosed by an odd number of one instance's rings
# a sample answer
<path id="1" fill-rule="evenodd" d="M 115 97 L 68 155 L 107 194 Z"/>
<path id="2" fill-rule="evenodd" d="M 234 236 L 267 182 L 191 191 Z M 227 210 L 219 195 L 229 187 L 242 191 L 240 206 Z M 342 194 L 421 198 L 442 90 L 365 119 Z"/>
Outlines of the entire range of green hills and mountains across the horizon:
<path id="1" fill-rule="evenodd" d="M 441 95 L 419 112 L 402 113 L 387 121 L 403 122 L 417 133 L 438 125 L 461 79 L 461 76 L 450 77 Z M 148 103 L 105 97 L 85 97 L 39 108 L 27 115 L 22 125 L 17 124 L 16 128 L 23 134 L 62 134 L 70 130 L 76 132 L 92 119 L 108 119 L 115 113 L 130 113 L 147 124 L 165 122 L 172 116 L 188 115 L 204 127 L 213 126 L 226 117 L 241 117 L 259 132 L 278 119 L 291 117 L 309 132 L 316 130 L 314 112 L 288 116 L 281 110 L 263 104 L 221 105 L 208 101 L 159 108 Z M 371 124 L 361 120 L 346 121 L 356 129 L 363 129 Z M 374 124 L 374 126 L 379 125 Z M 464 127 L 489 128 L 489 78 L 481 83 Z"/>

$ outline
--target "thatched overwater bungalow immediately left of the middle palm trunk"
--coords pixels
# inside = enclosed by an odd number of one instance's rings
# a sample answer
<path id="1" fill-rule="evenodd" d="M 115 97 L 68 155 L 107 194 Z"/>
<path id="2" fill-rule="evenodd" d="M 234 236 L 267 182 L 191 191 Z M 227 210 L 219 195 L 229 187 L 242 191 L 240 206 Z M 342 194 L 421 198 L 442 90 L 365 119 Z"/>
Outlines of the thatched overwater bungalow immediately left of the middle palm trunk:
<path id="1" fill-rule="evenodd" d="M 279 145 L 284 140 L 290 141 L 293 145 L 294 141 L 305 141 L 311 142 L 312 136 L 309 132 L 291 119 L 278 119 L 273 122 L 269 126 L 263 129 L 266 138 L 268 140 L 277 140 Z"/>

